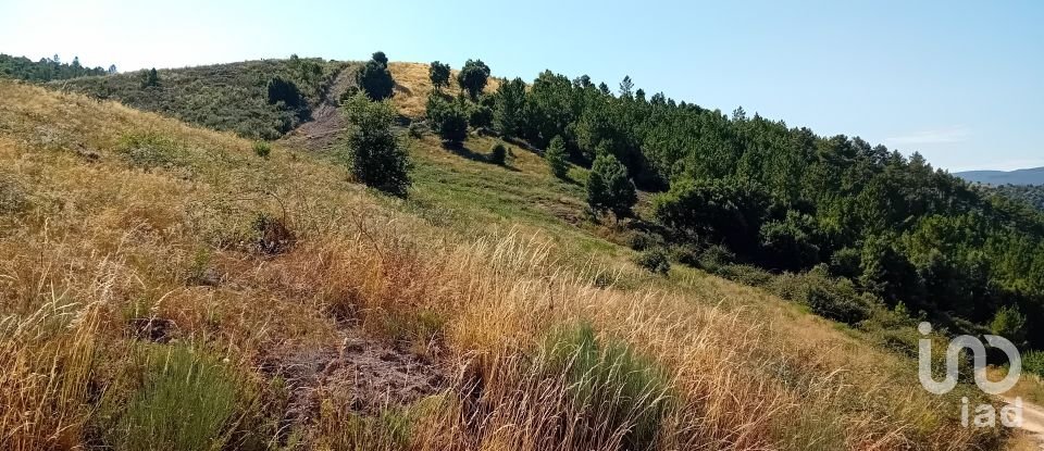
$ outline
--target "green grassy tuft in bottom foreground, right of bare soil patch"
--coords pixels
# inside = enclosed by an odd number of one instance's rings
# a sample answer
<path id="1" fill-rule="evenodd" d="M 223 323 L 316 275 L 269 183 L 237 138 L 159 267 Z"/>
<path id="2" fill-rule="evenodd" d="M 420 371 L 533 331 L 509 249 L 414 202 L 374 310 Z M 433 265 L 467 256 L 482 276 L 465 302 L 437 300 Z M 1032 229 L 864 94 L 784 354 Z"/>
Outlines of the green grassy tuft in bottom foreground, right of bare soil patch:
<path id="1" fill-rule="evenodd" d="M 647 450 L 655 444 L 668 408 L 669 378 L 650 359 L 618 340 L 599 340 L 589 324 L 551 334 L 544 346 L 542 368 L 564 377 L 571 402 L 566 418 L 577 425 L 586 441 L 622 436 L 624 449 Z"/>

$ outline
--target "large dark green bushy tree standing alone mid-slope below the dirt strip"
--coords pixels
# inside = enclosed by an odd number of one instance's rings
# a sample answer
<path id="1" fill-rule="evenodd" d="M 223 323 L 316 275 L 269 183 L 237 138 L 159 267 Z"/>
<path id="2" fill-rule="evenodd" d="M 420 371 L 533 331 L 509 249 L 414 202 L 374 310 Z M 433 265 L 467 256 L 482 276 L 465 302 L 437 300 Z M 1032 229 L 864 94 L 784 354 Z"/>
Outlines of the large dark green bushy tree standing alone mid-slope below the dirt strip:
<path id="1" fill-rule="evenodd" d="M 348 154 L 352 176 L 363 184 L 391 193 L 406 196 L 410 186 L 410 155 L 393 125 L 397 113 L 383 102 L 371 102 L 356 96 L 344 105 L 351 125 L 348 130 Z"/>

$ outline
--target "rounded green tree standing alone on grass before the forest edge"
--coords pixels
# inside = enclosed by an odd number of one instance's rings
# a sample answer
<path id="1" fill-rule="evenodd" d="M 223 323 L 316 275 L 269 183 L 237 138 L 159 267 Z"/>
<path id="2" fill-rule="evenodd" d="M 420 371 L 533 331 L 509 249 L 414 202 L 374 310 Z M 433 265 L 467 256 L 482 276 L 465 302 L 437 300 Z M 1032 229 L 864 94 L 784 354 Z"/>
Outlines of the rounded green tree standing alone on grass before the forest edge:
<path id="1" fill-rule="evenodd" d="M 617 221 L 629 217 L 638 201 L 627 168 L 609 153 L 599 154 L 587 176 L 587 204 L 598 213 L 612 212 Z"/>

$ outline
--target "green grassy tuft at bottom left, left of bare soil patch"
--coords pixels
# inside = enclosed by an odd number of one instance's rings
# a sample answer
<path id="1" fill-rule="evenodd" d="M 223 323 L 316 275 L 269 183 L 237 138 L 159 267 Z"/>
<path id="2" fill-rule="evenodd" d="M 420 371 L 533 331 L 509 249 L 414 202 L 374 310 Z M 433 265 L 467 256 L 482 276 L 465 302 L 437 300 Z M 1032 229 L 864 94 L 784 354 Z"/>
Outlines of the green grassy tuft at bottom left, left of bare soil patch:
<path id="1" fill-rule="evenodd" d="M 145 380 L 108 439 L 127 451 L 212 451 L 233 430 L 244 393 L 232 368 L 186 346 L 149 350 Z"/>

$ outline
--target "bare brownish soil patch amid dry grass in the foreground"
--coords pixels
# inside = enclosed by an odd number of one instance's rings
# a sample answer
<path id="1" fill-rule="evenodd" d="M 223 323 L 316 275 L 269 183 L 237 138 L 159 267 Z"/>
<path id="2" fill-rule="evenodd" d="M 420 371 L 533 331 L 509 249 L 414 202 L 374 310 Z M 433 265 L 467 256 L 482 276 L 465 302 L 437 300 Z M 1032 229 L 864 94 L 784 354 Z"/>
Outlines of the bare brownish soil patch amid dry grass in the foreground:
<path id="1" fill-rule="evenodd" d="M 286 421 L 298 424 L 314 417 L 321 399 L 348 400 L 349 411 L 375 415 L 435 394 L 447 384 L 436 364 L 350 331 L 339 346 L 279 350 L 261 367 L 286 381 L 290 393 Z"/>

